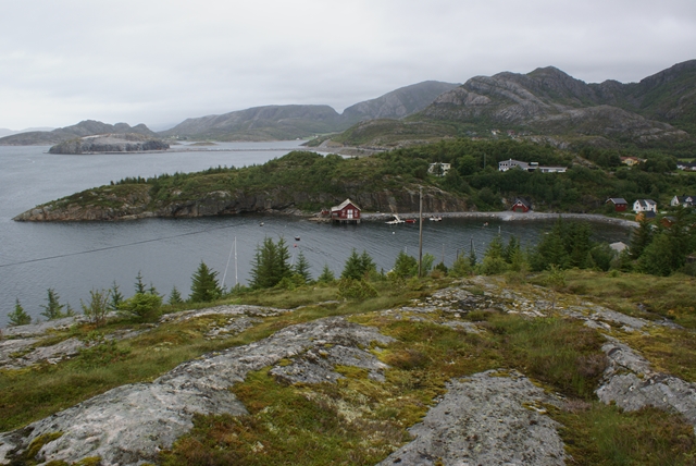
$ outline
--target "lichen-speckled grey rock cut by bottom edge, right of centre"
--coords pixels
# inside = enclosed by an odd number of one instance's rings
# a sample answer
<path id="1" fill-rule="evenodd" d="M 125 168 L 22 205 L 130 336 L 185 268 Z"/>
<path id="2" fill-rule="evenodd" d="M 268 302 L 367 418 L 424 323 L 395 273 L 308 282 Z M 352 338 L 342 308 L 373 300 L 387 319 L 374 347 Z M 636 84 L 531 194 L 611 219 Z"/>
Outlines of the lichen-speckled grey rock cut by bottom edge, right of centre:
<path id="1" fill-rule="evenodd" d="M 559 425 L 543 407 L 558 401 L 521 373 L 489 370 L 455 380 L 447 389 L 423 421 L 409 429 L 415 440 L 380 466 L 566 464 Z"/>

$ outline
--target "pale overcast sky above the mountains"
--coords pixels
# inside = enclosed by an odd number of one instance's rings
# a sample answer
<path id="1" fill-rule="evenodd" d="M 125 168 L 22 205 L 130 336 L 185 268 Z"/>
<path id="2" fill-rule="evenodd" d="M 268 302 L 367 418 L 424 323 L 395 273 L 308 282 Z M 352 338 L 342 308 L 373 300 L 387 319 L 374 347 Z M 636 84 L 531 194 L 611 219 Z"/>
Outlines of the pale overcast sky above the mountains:
<path id="1" fill-rule="evenodd" d="M 428 79 L 630 83 L 691 59 L 696 0 L 0 0 L 0 127 L 340 112 Z"/>

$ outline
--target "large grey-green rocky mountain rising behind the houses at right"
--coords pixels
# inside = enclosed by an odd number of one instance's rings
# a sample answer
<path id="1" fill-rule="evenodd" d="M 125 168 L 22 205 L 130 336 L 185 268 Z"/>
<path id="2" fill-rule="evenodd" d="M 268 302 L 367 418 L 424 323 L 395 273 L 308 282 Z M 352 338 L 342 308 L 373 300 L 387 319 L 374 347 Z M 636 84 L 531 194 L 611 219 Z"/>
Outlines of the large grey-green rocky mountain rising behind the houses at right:
<path id="1" fill-rule="evenodd" d="M 475 76 L 440 95 L 412 120 L 570 140 L 679 144 L 693 140 L 683 123 L 694 111 L 695 68 L 696 61 L 682 63 L 638 84 L 586 84 L 552 66 L 527 74 Z"/>

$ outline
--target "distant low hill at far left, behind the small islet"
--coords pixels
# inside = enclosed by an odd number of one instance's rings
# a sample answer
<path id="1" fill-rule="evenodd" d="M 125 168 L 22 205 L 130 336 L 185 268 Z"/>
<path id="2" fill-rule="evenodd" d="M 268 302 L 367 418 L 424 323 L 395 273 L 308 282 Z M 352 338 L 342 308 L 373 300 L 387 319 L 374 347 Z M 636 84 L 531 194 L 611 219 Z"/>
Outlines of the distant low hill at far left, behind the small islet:
<path id="1" fill-rule="evenodd" d="M 137 133 L 151 137 L 157 136 L 142 123 L 130 126 L 127 123 L 108 124 L 95 120 L 85 120 L 75 125 L 59 127 L 53 131 L 30 131 L 1 137 L 0 146 L 48 146 L 77 137 L 128 133 Z"/>

